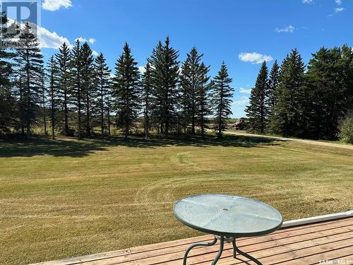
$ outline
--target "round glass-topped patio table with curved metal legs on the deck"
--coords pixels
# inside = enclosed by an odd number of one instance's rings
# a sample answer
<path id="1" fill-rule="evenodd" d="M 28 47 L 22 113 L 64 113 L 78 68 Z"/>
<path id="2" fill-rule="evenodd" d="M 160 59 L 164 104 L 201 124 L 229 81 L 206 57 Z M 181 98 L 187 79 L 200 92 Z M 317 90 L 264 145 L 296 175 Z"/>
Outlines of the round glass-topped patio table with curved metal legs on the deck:
<path id="1" fill-rule="evenodd" d="M 220 251 L 211 265 L 220 259 L 225 242 L 232 242 L 234 259 L 238 252 L 262 265 L 237 247 L 236 238 L 265 235 L 282 225 L 280 212 L 272 206 L 254 199 L 224 194 L 201 194 L 181 199 L 174 204 L 174 215 L 190 228 L 215 235 L 213 242 L 191 245 L 184 255 L 184 265 L 193 247 L 213 246 L 217 240 L 220 240 Z"/>

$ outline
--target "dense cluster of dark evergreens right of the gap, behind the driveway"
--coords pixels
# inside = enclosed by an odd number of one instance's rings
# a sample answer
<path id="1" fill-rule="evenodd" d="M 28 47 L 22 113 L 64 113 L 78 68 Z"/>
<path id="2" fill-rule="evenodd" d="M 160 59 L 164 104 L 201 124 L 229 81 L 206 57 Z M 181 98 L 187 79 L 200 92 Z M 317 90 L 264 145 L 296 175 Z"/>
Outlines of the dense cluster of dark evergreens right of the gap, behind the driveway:
<path id="1" fill-rule="evenodd" d="M 322 47 L 307 66 L 293 49 L 270 74 L 264 62 L 246 107 L 251 131 L 311 139 L 337 139 L 341 122 L 342 138 L 352 139 L 352 110 L 353 49 L 347 45 Z"/>

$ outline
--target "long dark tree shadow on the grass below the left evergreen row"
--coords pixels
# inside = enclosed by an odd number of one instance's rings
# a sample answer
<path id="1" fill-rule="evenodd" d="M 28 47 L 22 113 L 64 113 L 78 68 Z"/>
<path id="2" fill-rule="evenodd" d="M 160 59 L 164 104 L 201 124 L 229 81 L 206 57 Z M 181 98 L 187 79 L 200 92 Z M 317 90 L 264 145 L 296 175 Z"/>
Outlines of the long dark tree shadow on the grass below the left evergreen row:
<path id="1" fill-rule="evenodd" d="M 131 148 L 157 148 L 160 146 L 195 146 L 195 147 L 258 147 L 268 145 L 277 145 L 278 141 L 271 139 L 256 138 L 249 136 L 232 136 L 226 135 L 222 139 L 214 137 L 179 138 L 160 139 L 157 137 L 143 139 L 133 137 L 131 139 L 123 139 L 121 137 L 109 137 L 106 139 L 83 139 L 76 140 L 70 138 L 62 138 L 56 140 L 34 138 L 29 140 L 18 141 L 0 141 L 0 158 L 11 157 L 31 157 L 34 155 L 53 155 L 53 156 L 69 156 L 80 158 L 95 151 L 108 151 L 113 146 L 128 146 Z"/>

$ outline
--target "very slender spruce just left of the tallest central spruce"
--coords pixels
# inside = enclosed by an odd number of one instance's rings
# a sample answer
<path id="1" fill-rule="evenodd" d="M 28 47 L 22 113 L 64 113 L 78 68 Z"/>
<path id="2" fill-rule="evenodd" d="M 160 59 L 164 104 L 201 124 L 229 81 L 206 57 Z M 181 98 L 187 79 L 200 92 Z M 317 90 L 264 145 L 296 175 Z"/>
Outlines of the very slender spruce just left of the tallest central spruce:
<path id="1" fill-rule="evenodd" d="M 143 73 L 142 78 L 142 99 L 143 99 L 143 127 L 145 138 L 148 138 L 150 131 L 150 104 L 151 104 L 151 94 L 152 94 L 152 77 L 151 77 L 151 66 L 147 62 L 145 66 L 145 73 Z"/>

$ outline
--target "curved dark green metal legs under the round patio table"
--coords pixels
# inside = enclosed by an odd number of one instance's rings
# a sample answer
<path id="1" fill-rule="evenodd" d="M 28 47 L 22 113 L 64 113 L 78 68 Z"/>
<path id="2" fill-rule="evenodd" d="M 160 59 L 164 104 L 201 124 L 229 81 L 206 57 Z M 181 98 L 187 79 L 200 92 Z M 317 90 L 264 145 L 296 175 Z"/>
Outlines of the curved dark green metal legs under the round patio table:
<path id="1" fill-rule="evenodd" d="M 243 255 L 244 257 L 246 257 L 247 259 L 250 259 L 251 261 L 255 262 L 258 265 L 263 265 L 260 261 L 258 261 L 257 259 L 255 259 L 254 257 L 251 257 L 249 254 L 246 254 L 245 252 L 242 252 L 238 247 L 237 244 L 235 242 L 235 238 L 232 237 L 224 237 L 224 236 L 215 236 L 215 239 L 213 240 L 213 242 L 209 242 L 209 243 L 196 243 L 191 245 L 188 249 L 186 249 L 185 255 L 184 255 L 184 261 L 183 261 L 183 265 L 186 265 L 186 259 L 188 257 L 189 252 L 191 251 L 191 249 L 193 249 L 194 247 L 209 247 L 209 246 L 213 246 L 216 244 L 217 240 L 220 240 L 220 250 L 218 251 L 217 256 L 215 257 L 215 259 L 213 259 L 211 265 L 215 265 L 217 263 L 217 261 L 220 259 L 222 252 L 223 252 L 223 247 L 225 246 L 225 242 L 232 242 L 233 245 L 233 257 L 234 259 L 237 258 L 237 252 L 241 255 Z M 244 261 L 246 262 L 246 261 Z"/>

